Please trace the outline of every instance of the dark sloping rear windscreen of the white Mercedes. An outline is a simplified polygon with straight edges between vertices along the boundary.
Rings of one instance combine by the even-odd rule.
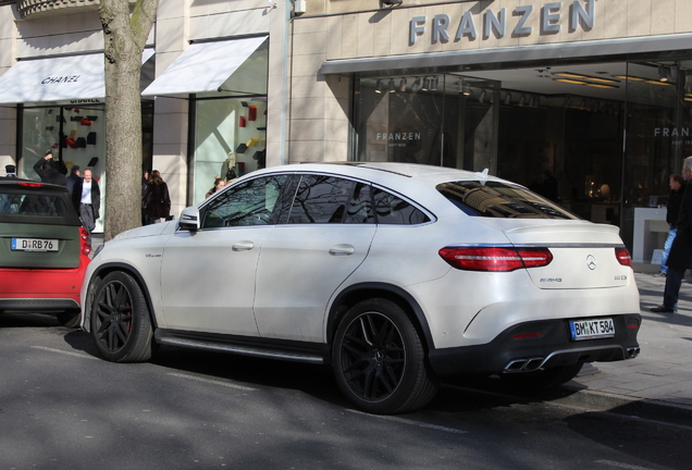
[[[449,182],[437,185],[437,190],[457,208],[472,217],[578,219],[522,186],[503,182]]]

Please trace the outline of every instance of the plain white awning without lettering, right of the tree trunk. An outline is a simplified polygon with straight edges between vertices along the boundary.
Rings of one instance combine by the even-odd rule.
[[[267,36],[190,45],[143,96],[217,91]]]

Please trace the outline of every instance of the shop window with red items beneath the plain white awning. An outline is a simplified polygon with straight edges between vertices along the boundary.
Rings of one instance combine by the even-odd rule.
[[[205,200],[214,178],[227,181],[265,165],[268,42],[218,92],[200,94],[193,103],[193,205]]]

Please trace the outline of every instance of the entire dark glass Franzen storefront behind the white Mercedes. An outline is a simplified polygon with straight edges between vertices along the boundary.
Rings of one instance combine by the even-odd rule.
[[[634,209],[665,206],[670,174],[692,154],[692,63],[583,65],[594,72],[555,63],[526,69],[532,82],[514,82],[523,89],[506,88],[505,78],[517,74],[502,69],[356,77],[351,159],[489,168],[539,193],[552,180],[557,202],[619,225],[631,248]],[[558,92],[541,89],[557,82]]]

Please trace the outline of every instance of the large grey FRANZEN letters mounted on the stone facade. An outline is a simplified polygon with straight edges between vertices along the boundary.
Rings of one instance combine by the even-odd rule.
[[[565,5],[568,3],[568,5]],[[493,11],[486,9],[480,14],[466,11],[461,15],[458,25],[452,25],[449,15],[437,14],[433,17],[432,24],[432,41],[448,42],[452,40],[460,41],[462,38],[475,39],[479,35],[479,28],[483,35],[483,39],[487,39],[491,35],[502,38],[507,35],[508,26],[515,36],[531,36],[534,28],[529,26],[533,15],[540,15],[539,34],[559,33],[563,25],[563,15],[569,15],[569,29],[578,28],[591,29],[596,24],[596,0],[573,0],[571,2],[549,2],[544,3],[543,8],[535,9],[534,5],[518,5],[511,13],[507,9]],[[536,10],[540,10],[536,12]],[[509,20],[511,17],[511,20]],[[412,46],[416,40],[425,34],[428,27],[427,16],[415,16],[409,24],[409,44]],[[456,27],[456,32],[454,28]]]

